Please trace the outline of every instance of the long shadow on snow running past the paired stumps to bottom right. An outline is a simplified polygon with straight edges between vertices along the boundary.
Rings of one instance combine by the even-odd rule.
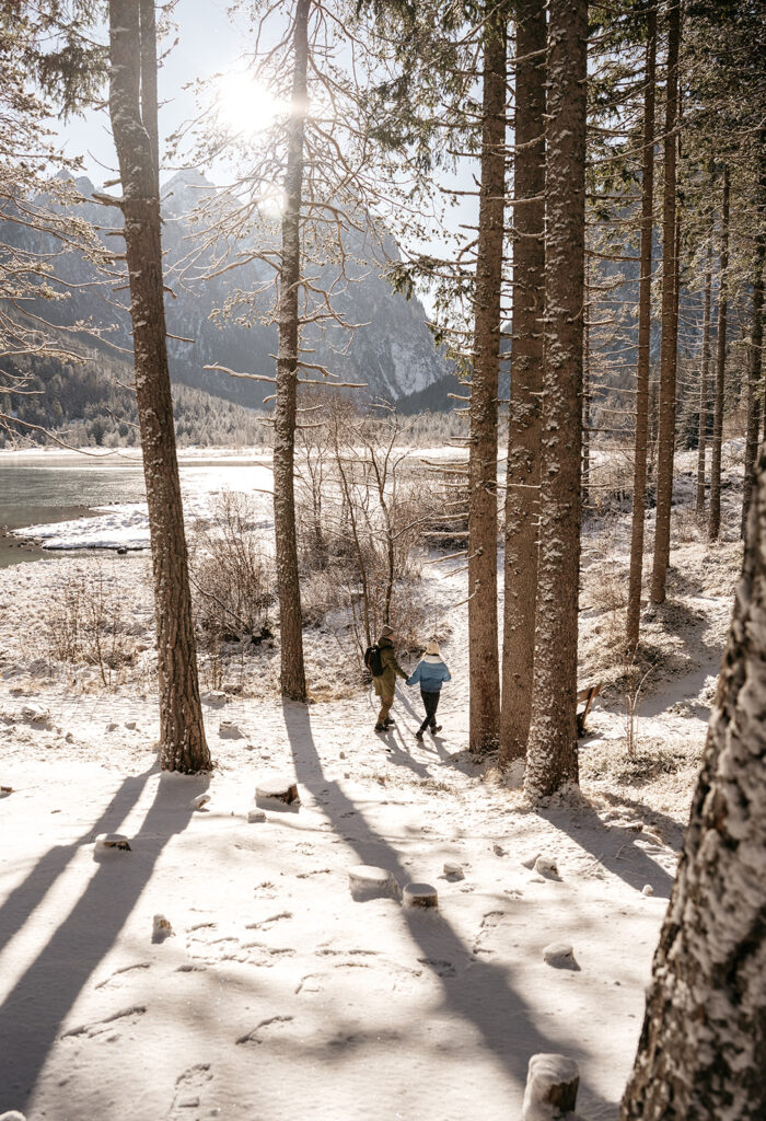
[[[321,804],[336,833],[353,847],[359,863],[384,868],[400,886],[408,883],[411,876],[399,853],[375,833],[338,784],[325,777],[306,706],[283,701],[282,710],[298,781]],[[429,915],[402,907],[401,916],[421,951],[419,961],[441,985],[448,1012],[475,1026],[487,1053],[521,1093],[530,1057],[539,1051],[558,1051],[560,1043],[541,1031],[536,1013],[514,991],[507,963],[501,967],[475,957],[443,911]],[[451,965],[456,967],[446,967]],[[587,1057],[573,1041],[568,1043],[567,1050],[574,1059]],[[591,1087],[583,1085],[582,1097],[583,1109],[598,1111],[602,1118],[616,1117],[616,1103],[606,1102]]]

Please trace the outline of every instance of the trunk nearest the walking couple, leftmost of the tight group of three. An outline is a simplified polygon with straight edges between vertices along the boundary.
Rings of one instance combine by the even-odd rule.
[[[505,216],[505,48],[507,16],[494,10],[484,28],[482,188],[476,265],[474,370],[468,456],[468,745],[497,742],[497,371]]]

